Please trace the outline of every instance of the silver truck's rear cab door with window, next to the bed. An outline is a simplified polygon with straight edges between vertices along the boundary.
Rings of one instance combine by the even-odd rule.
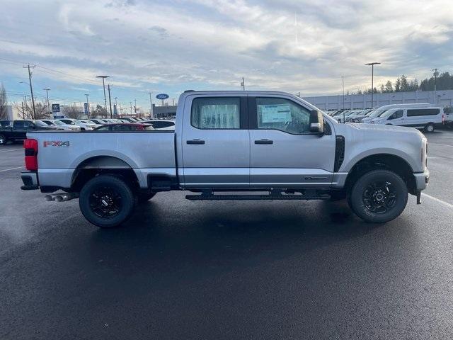
[[[183,186],[243,188],[249,185],[250,140],[246,96],[188,96],[182,138]]]

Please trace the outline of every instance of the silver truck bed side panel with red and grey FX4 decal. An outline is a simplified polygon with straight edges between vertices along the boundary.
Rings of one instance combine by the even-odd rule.
[[[112,160],[129,166],[140,186],[147,187],[148,174],[176,176],[173,131],[29,132],[38,140],[40,186],[69,188],[75,169],[88,160],[98,165]],[[109,166],[110,166],[109,165]]]

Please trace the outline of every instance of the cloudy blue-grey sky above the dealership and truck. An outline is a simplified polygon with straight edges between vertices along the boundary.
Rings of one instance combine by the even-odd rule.
[[[453,71],[453,2],[351,0],[0,0],[0,81],[11,101],[103,101],[110,75],[122,106],[185,89],[275,89],[302,96]]]

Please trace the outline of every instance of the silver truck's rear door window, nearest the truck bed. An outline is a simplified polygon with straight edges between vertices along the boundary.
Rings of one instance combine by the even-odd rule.
[[[195,98],[190,123],[199,129],[239,129],[240,100],[235,97]]]

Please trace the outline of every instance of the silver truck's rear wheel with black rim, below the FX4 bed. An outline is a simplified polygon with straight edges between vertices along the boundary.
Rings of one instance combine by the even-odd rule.
[[[88,181],[80,191],[79,206],[88,222],[101,228],[121,225],[134,212],[131,188],[115,176],[101,175]]]

